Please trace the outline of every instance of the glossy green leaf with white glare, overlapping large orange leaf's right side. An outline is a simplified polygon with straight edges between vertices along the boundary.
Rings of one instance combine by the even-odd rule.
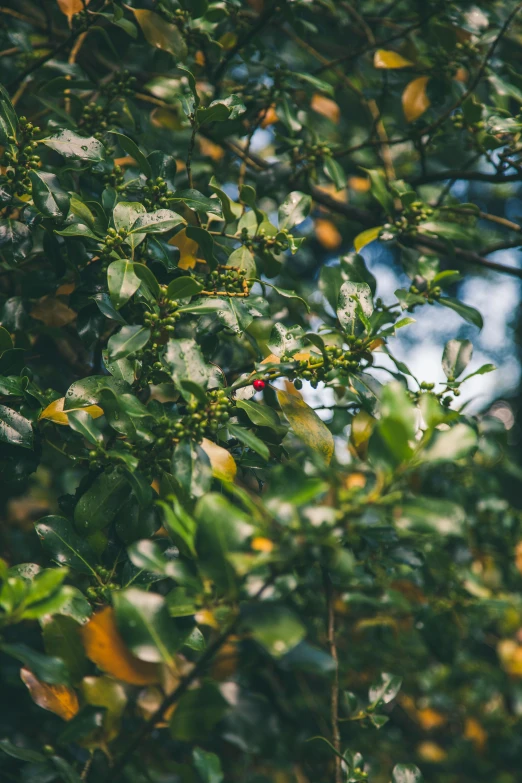
[[[171,618],[165,598],[157,593],[129,587],[115,592],[113,600],[118,630],[133,655],[173,665],[192,627]]]

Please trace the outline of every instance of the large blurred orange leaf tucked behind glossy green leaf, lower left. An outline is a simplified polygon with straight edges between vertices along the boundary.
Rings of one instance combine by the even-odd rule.
[[[140,661],[125,646],[110,606],[97,612],[80,633],[87,657],[102,671],[131,685],[159,682],[159,666]]]

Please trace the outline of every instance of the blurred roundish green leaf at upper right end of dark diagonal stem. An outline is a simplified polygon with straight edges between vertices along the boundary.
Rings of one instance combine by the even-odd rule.
[[[286,655],[306,635],[305,626],[290,609],[271,601],[247,606],[241,624],[274,658]]]

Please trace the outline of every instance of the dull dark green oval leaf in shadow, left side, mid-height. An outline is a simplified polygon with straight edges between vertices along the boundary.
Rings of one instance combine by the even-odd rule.
[[[74,509],[74,524],[83,535],[107,527],[128,496],[127,480],[117,469],[97,476]]]

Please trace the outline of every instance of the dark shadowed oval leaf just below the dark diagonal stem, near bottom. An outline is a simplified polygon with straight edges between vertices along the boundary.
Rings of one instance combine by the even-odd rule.
[[[176,740],[204,740],[228,709],[228,703],[217,685],[206,682],[188,691],[179,700],[170,720],[170,731]]]

